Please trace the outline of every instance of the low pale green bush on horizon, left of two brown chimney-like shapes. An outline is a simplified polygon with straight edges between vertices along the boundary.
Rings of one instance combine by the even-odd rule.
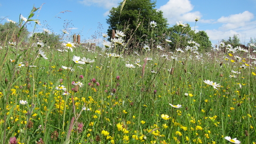
[[[60,44],[60,36],[55,34],[48,34],[46,32],[43,33],[34,33],[33,36],[31,36],[30,41],[32,42],[38,42],[42,41],[45,45],[55,47],[58,44]]]

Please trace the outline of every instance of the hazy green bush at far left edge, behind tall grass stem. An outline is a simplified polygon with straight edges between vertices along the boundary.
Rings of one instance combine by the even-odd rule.
[[[13,42],[17,41],[17,35],[19,33],[19,26],[12,22],[5,22],[4,25],[0,23],[0,42]],[[27,28],[23,28],[20,33],[19,39],[26,41],[28,38]]]

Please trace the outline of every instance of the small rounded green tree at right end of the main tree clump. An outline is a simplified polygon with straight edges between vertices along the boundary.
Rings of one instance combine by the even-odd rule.
[[[209,36],[205,33],[204,30],[198,31],[193,37],[194,41],[200,44],[198,51],[209,50],[212,47],[212,42],[209,40]]]

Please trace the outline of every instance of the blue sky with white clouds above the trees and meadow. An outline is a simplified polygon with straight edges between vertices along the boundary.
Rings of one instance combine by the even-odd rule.
[[[38,19],[41,26],[29,23],[28,30],[35,28],[37,33],[49,29],[54,34],[62,34],[63,39],[72,41],[73,34],[81,35],[82,42],[100,43],[102,33],[106,33],[109,10],[123,0],[9,0],[0,1],[0,23],[6,19],[19,21],[19,15],[28,17],[35,7],[41,7],[33,19]],[[204,30],[212,44],[221,39],[237,35],[242,44],[250,38],[256,39],[256,0],[157,0],[156,9],[163,11],[163,16],[172,27],[178,21],[188,23],[191,29]],[[195,26],[195,18],[200,17]],[[157,23],[161,25],[161,23]]]

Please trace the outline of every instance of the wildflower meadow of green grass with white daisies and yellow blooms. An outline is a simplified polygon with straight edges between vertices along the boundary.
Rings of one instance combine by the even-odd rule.
[[[122,29],[95,49],[26,42],[37,10],[20,15],[17,41],[0,44],[1,143],[256,142],[255,45],[171,50],[165,39],[137,51]]]

